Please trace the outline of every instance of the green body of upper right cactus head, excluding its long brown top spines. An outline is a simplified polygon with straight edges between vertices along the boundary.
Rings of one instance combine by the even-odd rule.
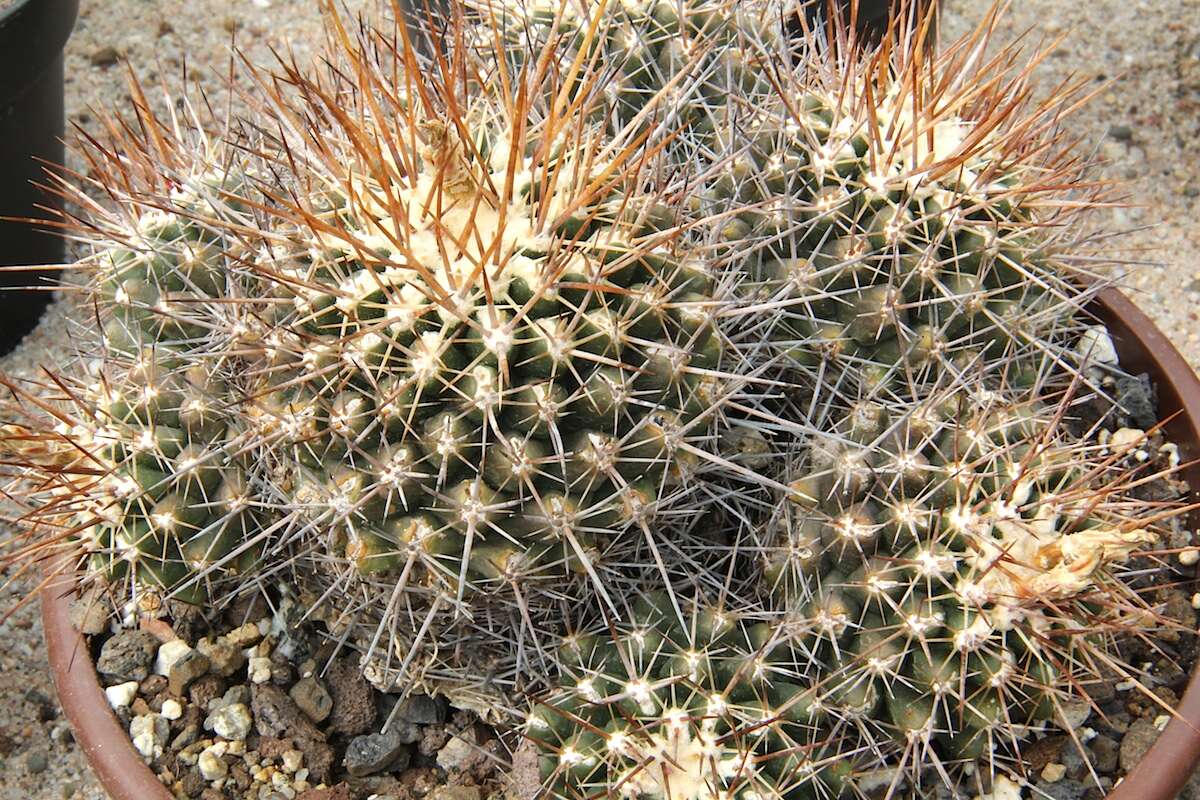
[[[1015,383],[1062,347],[1080,296],[1026,191],[1037,173],[974,122],[874,90],[883,100],[798,89],[728,145],[708,204],[769,313],[762,333],[802,371],[864,391],[1001,362]]]

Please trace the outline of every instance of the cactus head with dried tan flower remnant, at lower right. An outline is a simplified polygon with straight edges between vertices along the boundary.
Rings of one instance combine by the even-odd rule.
[[[864,703],[884,750],[991,758],[1056,716],[1087,639],[1076,614],[1104,625],[1078,604],[1156,536],[1086,499],[1105,479],[1085,475],[1086,446],[1028,392],[839,417],[788,471],[761,540],[762,591],[822,685],[882,698]]]

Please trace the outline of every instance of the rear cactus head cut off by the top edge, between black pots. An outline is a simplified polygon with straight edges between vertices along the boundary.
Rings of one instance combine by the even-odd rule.
[[[550,48],[571,98],[613,132],[674,137],[680,157],[713,142],[772,94],[761,59],[786,49],[786,4],[775,0],[473,2],[480,49],[494,58],[499,30],[514,66]]]

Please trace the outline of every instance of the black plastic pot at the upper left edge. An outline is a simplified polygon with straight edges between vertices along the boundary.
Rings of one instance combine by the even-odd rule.
[[[62,48],[79,0],[17,0],[0,11],[0,265],[59,264],[64,240],[18,219],[53,218],[58,199],[35,182],[46,162],[62,163]],[[48,285],[48,271],[0,272],[0,354],[41,318],[50,293],[12,287]]]

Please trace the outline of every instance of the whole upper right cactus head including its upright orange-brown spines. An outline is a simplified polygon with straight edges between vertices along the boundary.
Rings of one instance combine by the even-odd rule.
[[[1046,134],[1080,88],[1031,104],[1020,59],[972,60],[985,34],[930,56],[896,25],[899,46],[866,53],[806,35],[784,102],[709,173],[716,242],[748,277],[756,336],[821,380],[886,393],[978,363],[1015,380],[1068,347],[1094,277],[1072,221],[1103,191]]]

